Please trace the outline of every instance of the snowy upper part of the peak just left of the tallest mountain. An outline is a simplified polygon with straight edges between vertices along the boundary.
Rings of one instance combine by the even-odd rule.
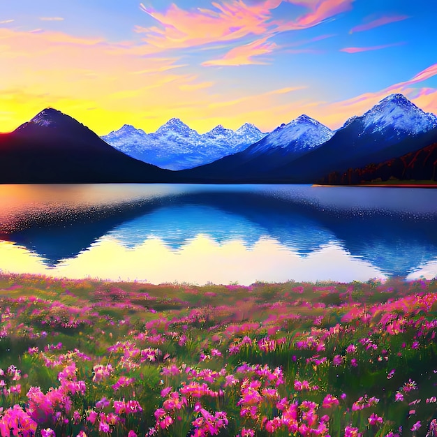
[[[288,124],[281,124],[272,133],[249,147],[246,153],[262,154],[274,149],[294,154],[304,153],[323,144],[334,135],[327,126],[302,114]]]

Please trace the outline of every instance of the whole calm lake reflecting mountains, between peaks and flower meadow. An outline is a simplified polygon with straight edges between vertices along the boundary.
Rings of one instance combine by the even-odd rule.
[[[0,269],[149,283],[437,275],[437,190],[0,186]]]

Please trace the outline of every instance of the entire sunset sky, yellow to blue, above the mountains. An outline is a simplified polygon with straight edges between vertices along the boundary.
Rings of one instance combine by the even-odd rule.
[[[434,0],[0,0],[0,132],[47,107],[98,135],[335,129],[392,93],[437,113],[436,17]]]

